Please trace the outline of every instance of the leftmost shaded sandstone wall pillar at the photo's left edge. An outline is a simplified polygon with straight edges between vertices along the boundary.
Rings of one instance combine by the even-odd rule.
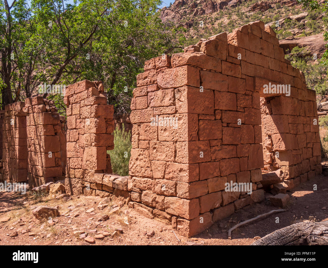
[[[27,177],[27,132],[24,102],[5,106],[3,118],[2,180],[26,182]]]

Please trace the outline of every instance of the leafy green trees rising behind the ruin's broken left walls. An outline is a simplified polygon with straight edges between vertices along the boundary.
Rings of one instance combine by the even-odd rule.
[[[159,4],[160,0],[75,0],[67,5],[62,0],[32,0],[31,6],[18,0],[12,7],[2,4],[1,10],[13,9],[1,17],[3,104],[36,94],[43,83],[68,85],[88,79],[104,82],[116,112],[129,111],[135,76],[143,71],[144,61],[183,42],[174,41],[175,27],[161,22]],[[11,51],[14,60],[8,56]],[[48,97],[64,107],[62,96]]]

